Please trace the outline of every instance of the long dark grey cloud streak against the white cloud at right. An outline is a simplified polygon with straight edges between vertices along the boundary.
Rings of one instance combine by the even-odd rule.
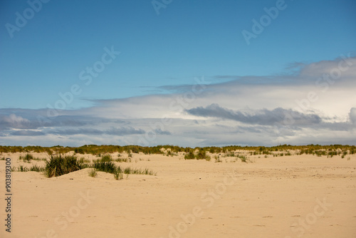
[[[261,109],[257,110],[256,113],[251,114],[222,108],[218,104],[213,103],[205,108],[197,107],[186,111],[191,115],[236,120],[241,123],[253,125],[275,125],[276,123],[285,124],[286,120],[292,119],[293,125],[313,125],[321,123],[319,115],[304,114],[295,110],[283,108],[275,108],[273,110]]]

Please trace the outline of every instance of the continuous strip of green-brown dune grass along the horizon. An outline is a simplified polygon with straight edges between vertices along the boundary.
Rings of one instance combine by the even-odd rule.
[[[78,148],[64,147],[56,145],[52,147],[41,146],[2,146],[0,145],[0,155],[2,152],[47,152],[48,155],[60,155],[68,152],[75,152],[78,154],[91,154],[91,155],[107,155],[115,152],[127,153],[127,157],[131,158],[132,154],[143,153],[145,155],[178,155],[179,152],[187,153],[187,159],[196,159],[196,155],[189,153],[190,151],[206,151],[213,153],[225,153],[233,155],[236,150],[246,150],[250,155],[273,155],[276,156],[290,156],[290,155],[315,155],[322,156],[327,155],[334,157],[335,155],[354,155],[356,153],[355,145],[277,145],[272,147],[264,146],[239,146],[229,145],[224,147],[204,147],[204,148],[182,148],[175,145],[157,145],[153,147],[145,147],[139,145],[83,145]],[[35,160],[35,158],[26,157],[25,161]],[[190,157],[189,157],[190,156]],[[198,156],[199,157],[199,156]],[[21,157],[22,159],[22,157]],[[120,162],[120,161],[117,161]]]

